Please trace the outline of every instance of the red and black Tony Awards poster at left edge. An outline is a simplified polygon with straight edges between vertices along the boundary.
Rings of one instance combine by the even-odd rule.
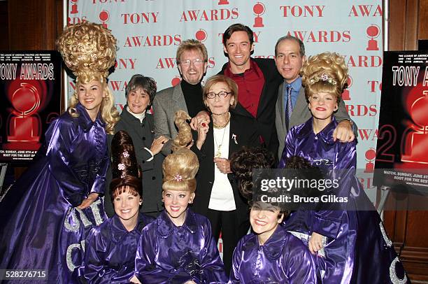
[[[0,162],[25,165],[60,113],[61,56],[0,51]]]

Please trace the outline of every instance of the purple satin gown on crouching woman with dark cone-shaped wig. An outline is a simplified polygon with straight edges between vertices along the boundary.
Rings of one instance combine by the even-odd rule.
[[[141,231],[155,220],[140,213],[135,229],[125,229],[117,215],[94,227],[85,241],[85,265],[76,269],[82,283],[129,283]]]

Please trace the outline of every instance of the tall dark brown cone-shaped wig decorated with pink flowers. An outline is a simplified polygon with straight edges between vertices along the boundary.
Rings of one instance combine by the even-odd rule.
[[[128,186],[134,196],[143,195],[141,187],[141,177],[136,161],[134,144],[131,136],[120,130],[113,137],[111,142],[111,172],[113,180],[110,183],[110,197],[115,199],[117,195],[125,192]]]

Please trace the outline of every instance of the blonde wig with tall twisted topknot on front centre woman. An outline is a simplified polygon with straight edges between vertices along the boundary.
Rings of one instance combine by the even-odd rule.
[[[190,191],[196,190],[196,178],[199,169],[197,155],[186,148],[192,141],[192,131],[186,122],[190,116],[185,111],[176,113],[178,135],[173,140],[173,152],[166,156],[162,164],[164,183],[162,190]]]

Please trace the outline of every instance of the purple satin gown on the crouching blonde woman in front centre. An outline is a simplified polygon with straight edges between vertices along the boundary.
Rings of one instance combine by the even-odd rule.
[[[145,226],[135,269],[141,283],[227,283],[210,222],[189,208],[180,227],[166,211]]]

